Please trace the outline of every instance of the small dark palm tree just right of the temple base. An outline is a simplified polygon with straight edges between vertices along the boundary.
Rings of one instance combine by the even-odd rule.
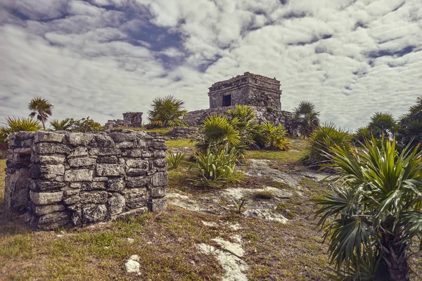
[[[315,111],[315,105],[310,101],[301,101],[293,110],[293,124],[303,138],[309,136],[319,126],[319,112]]]

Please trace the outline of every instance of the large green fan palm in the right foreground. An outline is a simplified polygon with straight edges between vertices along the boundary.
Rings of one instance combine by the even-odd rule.
[[[343,280],[409,280],[407,251],[422,235],[422,152],[392,141],[362,148],[335,145],[329,155],[340,176],[316,200],[319,226]],[[342,273],[343,270],[343,273]],[[387,274],[385,279],[381,276]]]

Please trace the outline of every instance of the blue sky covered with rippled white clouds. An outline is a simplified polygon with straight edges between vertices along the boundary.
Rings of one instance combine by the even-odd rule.
[[[41,96],[105,123],[243,72],[348,129],[422,95],[421,0],[0,0],[0,122]]]

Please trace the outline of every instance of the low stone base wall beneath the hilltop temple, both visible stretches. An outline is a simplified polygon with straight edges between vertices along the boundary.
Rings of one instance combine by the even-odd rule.
[[[260,107],[251,106],[255,112],[255,120],[258,123],[264,121],[272,122],[276,125],[282,124],[284,129],[290,133],[290,135],[296,135],[297,133],[293,130],[292,124],[292,113],[288,111],[279,110],[273,107]],[[200,126],[208,116],[219,115],[224,116],[227,110],[233,109],[234,106],[230,107],[216,107],[207,110],[196,110],[188,112],[188,116],[184,119],[186,124],[189,126]]]

